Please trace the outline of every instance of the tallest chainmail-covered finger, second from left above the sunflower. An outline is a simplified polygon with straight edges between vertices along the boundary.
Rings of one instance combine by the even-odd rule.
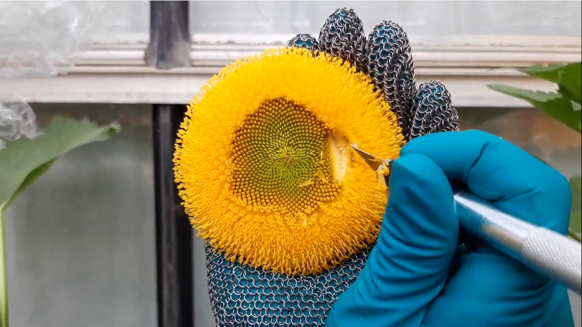
[[[364,27],[353,9],[336,9],[321,27],[320,50],[349,61],[366,72]]]

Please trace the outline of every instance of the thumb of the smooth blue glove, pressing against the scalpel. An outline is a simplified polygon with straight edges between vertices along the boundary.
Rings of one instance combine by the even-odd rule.
[[[457,247],[459,221],[445,175],[423,155],[393,163],[378,243],[326,326],[414,326],[438,295]]]

